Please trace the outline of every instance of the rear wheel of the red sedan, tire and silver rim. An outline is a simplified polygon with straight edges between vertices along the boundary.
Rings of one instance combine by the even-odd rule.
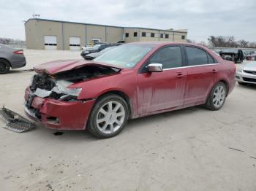
[[[210,110],[219,110],[225,104],[227,97],[227,87],[223,82],[218,82],[211,90],[206,100],[206,108]]]

